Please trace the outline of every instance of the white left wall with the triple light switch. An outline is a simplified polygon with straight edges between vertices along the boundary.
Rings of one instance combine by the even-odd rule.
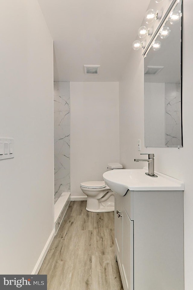
[[[36,0],[1,3],[0,274],[31,274],[54,230],[53,42]]]

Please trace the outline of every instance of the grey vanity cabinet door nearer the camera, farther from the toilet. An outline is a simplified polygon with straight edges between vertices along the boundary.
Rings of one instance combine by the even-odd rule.
[[[134,289],[134,230],[125,208],[122,210],[122,274],[126,290]],[[124,288],[124,290],[125,290]]]

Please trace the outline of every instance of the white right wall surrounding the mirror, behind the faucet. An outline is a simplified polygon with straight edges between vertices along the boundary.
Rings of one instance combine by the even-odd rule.
[[[144,81],[143,57],[140,51],[131,51],[122,81],[120,95],[120,163],[125,168],[142,168],[135,163],[140,157],[137,140],[141,139],[141,153],[155,154],[155,169],[185,182],[184,239],[185,239],[185,290],[193,285],[193,194],[192,194],[192,144],[193,144],[193,58],[192,58],[193,2],[184,1],[183,26],[183,148],[144,148]]]

